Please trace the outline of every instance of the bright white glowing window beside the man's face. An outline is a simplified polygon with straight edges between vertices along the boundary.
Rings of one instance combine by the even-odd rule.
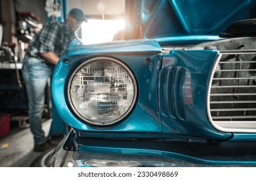
[[[88,19],[82,25],[82,40],[84,44],[96,44],[113,41],[114,34],[123,30],[123,19]]]

